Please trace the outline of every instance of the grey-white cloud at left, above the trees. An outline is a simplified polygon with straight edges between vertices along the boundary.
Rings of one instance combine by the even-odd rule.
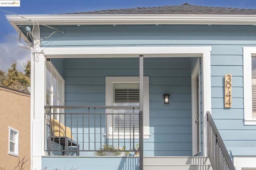
[[[18,37],[17,33],[12,33],[0,42],[0,70],[7,72],[13,61],[16,61],[17,70],[23,72],[25,64],[30,60],[30,50],[21,48],[17,44],[19,41],[9,36]]]

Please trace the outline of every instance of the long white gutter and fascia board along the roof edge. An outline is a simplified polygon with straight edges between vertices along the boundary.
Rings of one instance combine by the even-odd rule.
[[[22,18],[23,17],[23,18]],[[256,15],[6,15],[16,25],[107,25],[107,24],[199,24],[199,25],[255,25]],[[27,19],[25,19],[27,18]],[[29,19],[29,20],[28,20]]]

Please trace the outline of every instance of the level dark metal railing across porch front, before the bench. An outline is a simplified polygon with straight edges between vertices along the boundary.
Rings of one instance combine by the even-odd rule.
[[[138,106],[44,106],[48,155],[118,156],[139,143]],[[115,113],[113,109],[122,109]],[[133,152],[132,152],[133,153]],[[88,155],[86,155],[88,156]]]

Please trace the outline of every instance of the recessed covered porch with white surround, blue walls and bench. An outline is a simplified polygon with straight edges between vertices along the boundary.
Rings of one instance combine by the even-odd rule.
[[[209,100],[210,47],[127,47],[127,49],[124,47],[123,49],[126,50],[122,50],[122,52],[122,48],[118,47],[87,47],[78,48],[78,51],[72,48],[72,51],[69,52],[69,48],[62,49],[64,51],[60,50],[60,48],[54,49],[44,49],[43,54],[35,54],[51,57],[54,68],[56,68],[65,82],[64,106],[54,106],[51,104],[43,106],[43,119],[45,120],[43,129],[46,133],[44,133],[45,145],[42,147],[46,157],[50,155],[95,156],[95,153],[98,150],[102,150],[104,145],[112,145],[112,147],[117,148],[117,150],[110,150],[110,152],[130,152],[126,156],[135,158],[138,157],[134,156],[136,155],[134,149],[137,149],[138,146],[140,147],[140,156],[195,155],[196,151],[193,151],[193,146],[195,145],[193,143],[193,128],[195,127],[192,125],[192,122],[194,122],[192,110],[194,108],[192,108],[191,75],[196,61],[201,61],[198,70],[202,82],[200,98],[202,101],[205,98]],[[81,51],[81,49],[85,51]],[[113,51],[108,52],[110,49]],[[128,51],[134,51],[133,53],[135,54],[129,54]],[[72,54],[68,55],[70,52]],[[139,55],[141,53],[143,53],[142,56]],[[207,57],[208,59],[206,59]],[[203,64],[208,64],[208,67],[203,66]],[[45,66],[44,68],[46,69]],[[137,77],[138,80],[135,83],[139,83],[142,87],[144,86],[144,77],[148,77],[148,117],[143,118],[144,134],[138,133],[137,130],[139,129],[136,130],[135,124],[132,123],[138,121],[138,119],[133,118],[139,113],[136,111],[130,112],[129,117],[132,118],[129,119],[131,121],[129,125],[126,125],[126,121],[121,123],[119,121],[112,121],[112,123],[118,123],[117,126],[124,123],[124,130],[120,130],[116,134],[114,132],[110,133],[114,130],[106,127],[108,124],[106,117],[108,115],[112,117],[114,113],[111,110],[114,107],[124,106],[108,104],[106,77]],[[207,78],[209,81],[205,81]],[[164,105],[162,95],[166,93],[171,94],[169,105]],[[145,96],[145,92],[142,94]],[[200,156],[206,155],[204,153],[204,139],[206,138],[204,129],[206,115],[204,112],[206,113],[206,107],[210,109],[209,101],[207,103],[206,100],[206,102],[202,102],[202,105],[200,105],[202,112],[200,117],[200,132],[202,132],[200,136]],[[141,102],[139,106],[126,106],[129,108],[122,109],[143,111],[141,109],[143,107],[140,106]],[[115,114],[120,117],[123,116],[123,113]],[[49,123],[51,118],[56,118],[65,127],[70,128],[72,136],[69,147],[65,148],[60,143],[62,141],[60,136],[52,137],[51,129],[56,127]],[[49,126],[47,127],[47,125]],[[60,125],[57,128],[60,128]],[[64,132],[66,133],[66,130]],[[140,137],[139,134],[143,137]],[[143,144],[140,143],[142,139]],[[139,145],[136,147],[136,144]],[[125,149],[122,149],[122,147]]]

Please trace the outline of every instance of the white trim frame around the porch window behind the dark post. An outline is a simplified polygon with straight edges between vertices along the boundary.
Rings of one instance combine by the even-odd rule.
[[[143,92],[144,92],[144,110],[143,110],[143,124],[144,124],[144,139],[149,139],[150,137],[150,133],[149,133],[149,77],[148,76],[144,76],[144,86],[143,86]],[[113,84],[115,83],[139,83],[139,77],[138,76],[134,76],[134,77],[106,77],[106,106],[113,106],[114,105],[114,88],[113,88]],[[113,109],[106,109],[106,113],[113,113]],[[112,133],[112,116],[107,116],[107,133],[105,134],[107,136],[108,139],[118,139],[118,137],[120,139],[124,138],[124,134],[123,133],[118,133],[114,132],[114,134]],[[134,133],[134,137],[136,139],[139,138],[139,133]],[[130,138],[130,133],[125,133],[125,139],[129,139]]]

